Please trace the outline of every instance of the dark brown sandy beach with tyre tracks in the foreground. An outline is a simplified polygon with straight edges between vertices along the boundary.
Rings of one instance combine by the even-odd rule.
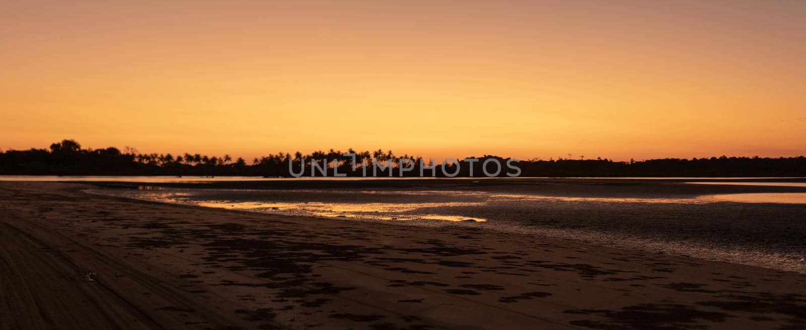
[[[806,327],[794,272],[85,188],[0,183],[0,328]]]

